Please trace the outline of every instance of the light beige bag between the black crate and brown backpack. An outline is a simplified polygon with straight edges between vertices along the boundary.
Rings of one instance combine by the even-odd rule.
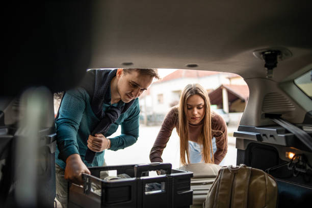
[[[193,177],[191,178],[193,204],[190,206],[191,208],[202,207],[220,168],[219,165],[210,163],[192,163],[179,168],[179,170],[193,172]]]

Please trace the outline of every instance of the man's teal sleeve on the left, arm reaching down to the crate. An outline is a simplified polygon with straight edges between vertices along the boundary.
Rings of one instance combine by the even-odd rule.
[[[59,117],[56,120],[59,158],[66,162],[71,154],[79,154],[77,131],[86,108],[86,92],[83,89],[69,90],[64,94]]]

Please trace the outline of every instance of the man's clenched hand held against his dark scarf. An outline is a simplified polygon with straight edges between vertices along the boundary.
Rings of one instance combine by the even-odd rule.
[[[92,151],[100,152],[111,147],[111,142],[102,134],[95,134],[95,137],[89,135],[88,147]]]

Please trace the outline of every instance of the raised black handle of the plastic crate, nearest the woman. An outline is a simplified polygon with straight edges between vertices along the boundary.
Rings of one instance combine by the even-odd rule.
[[[153,171],[153,170],[165,170],[166,174],[171,174],[171,163],[149,163],[149,164],[141,164],[135,165],[135,177],[141,177],[143,172]]]

